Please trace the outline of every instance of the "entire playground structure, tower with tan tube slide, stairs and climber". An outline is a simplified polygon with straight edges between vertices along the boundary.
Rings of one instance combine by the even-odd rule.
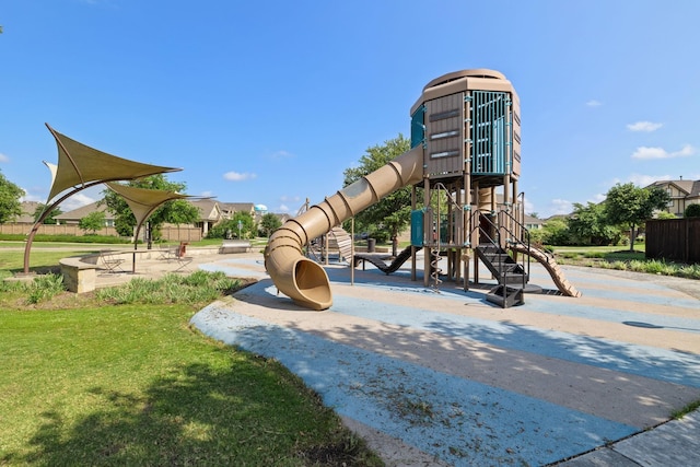
[[[498,280],[487,299],[506,307],[524,302],[534,258],[545,265],[563,294],[579,296],[553,258],[533,248],[523,225],[524,195],[517,190],[520,101],[511,82],[486,69],[447,73],[423,87],[410,115],[409,151],[287,221],[271,235],[265,265],[277,288],[301,306],[330,307],[328,276],[304,257],[304,246],[410,185],[411,279],[417,280],[421,248],[425,287],[451,280],[462,281],[467,290],[470,260],[477,283],[481,260]]]

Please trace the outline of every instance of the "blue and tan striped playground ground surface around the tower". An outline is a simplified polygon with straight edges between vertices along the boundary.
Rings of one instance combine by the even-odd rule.
[[[546,293],[502,310],[487,289],[369,267],[351,285],[331,265],[334,305],[313,312],[261,255],[199,268],[258,282],[192,323],[282,362],[387,465],[700,465],[698,412],[666,423],[700,399],[700,281],[563,267],[572,299],[533,264]]]

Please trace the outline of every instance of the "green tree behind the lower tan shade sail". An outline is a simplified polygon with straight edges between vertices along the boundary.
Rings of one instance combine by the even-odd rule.
[[[129,186],[145,189],[159,189],[164,191],[185,191],[185,183],[168,182],[165,175],[158,174],[149,177],[130,180]],[[133,234],[133,227],[136,226],[136,218],[129,208],[129,205],[110,189],[103,191],[104,199],[101,201],[107,206],[109,212],[115,214],[115,229],[122,236],[130,236]],[[197,222],[199,219],[199,210],[191,203],[184,199],[175,199],[166,201],[161,205],[148,219],[147,229],[148,238],[151,241],[159,240],[161,237],[161,226],[164,223],[172,224],[186,224]]]

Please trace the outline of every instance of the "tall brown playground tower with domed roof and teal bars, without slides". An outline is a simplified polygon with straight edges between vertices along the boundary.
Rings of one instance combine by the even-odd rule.
[[[520,100],[502,73],[463,70],[429,82],[410,115],[411,148],[423,150],[423,177],[415,187],[423,188],[425,207],[413,211],[411,244],[427,248],[425,285],[445,273],[460,279],[464,261],[466,287],[471,248],[483,236],[503,243],[508,236],[495,231],[522,220]],[[506,215],[497,221],[500,212]],[[439,262],[444,257],[446,271]]]

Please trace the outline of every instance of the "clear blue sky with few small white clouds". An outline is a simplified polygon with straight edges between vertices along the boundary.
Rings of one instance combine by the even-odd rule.
[[[526,212],[567,213],[616,183],[700,179],[698,17],[695,0],[0,0],[0,171],[46,201],[48,122],[182,167],[189,195],[295,213],[409,136],[430,80],[490,68],[521,98]]]

